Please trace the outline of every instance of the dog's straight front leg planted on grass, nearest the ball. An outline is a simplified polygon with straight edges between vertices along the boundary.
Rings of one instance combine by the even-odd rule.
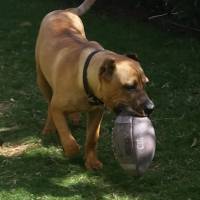
[[[85,144],[85,166],[89,170],[100,169],[103,166],[96,155],[96,146],[99,139],[102,117],[102,108],[95,109],[88,113],[87,136]]]

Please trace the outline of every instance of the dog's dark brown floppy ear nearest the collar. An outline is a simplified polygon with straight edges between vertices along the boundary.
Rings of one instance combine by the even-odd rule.
[[[115,60],[113,59],[106,59],[102,66],[100,67],[99,77],[100,79],[104,79],[110,81],[112,79],[112,75],[115,71]]]

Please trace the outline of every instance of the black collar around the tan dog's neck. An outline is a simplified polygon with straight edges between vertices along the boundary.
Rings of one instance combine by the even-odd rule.
[[[90,61],[91,61],[92,57],[100,51],[103,51],[103,50],[95,50],[92,53],[90,53],[89,56],[87,57],[86,61],[85,61],[84,68],[83,68],[83,86],[84,86],[85,92],[88,96],[88,102],[91,105],[103,105],[104,104],[99,98],[97,98],[94,95],[92,89],[89,86],[88,78],[87,78],[87,69],[88,69],[88,66],[90,64]]]

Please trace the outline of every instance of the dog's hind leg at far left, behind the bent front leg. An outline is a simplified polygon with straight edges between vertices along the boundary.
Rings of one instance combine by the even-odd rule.
[[[45,122],[45,126],[42,130],[43,134],[48,134],[50,132],[56,131],[53,119],[52,119],[52,114],[51,114],[51,109],[50,109],[50,102],[52,98],[52,89],[48,82],[46,81],[44,75],[42,74],[39,66],[37,66],[37,84],[38,87],[40,88],[41,93],[43,96],[46,98],[48,102],[48,113],[47,113],[47,119]]]

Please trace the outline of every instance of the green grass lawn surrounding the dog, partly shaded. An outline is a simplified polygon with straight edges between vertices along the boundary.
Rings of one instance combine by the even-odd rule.
[[[143,177],[127,175],[115,161],[111,113],[106,113],[102,127],[100,171],[85,170],[83,152],[73,160],[65,158],[55,135],[41,137],[47,105],[35,83],[35,40],[42,17],[63,6],[55,0],[0,3],[0,138],[5,141],[3,149],[31,146],[19,155],[0,155],[0,200],[199,200],[197,39],[94,10],[83,17],[89,39],[116,52],[137,52],[151,80],[147,90],[156,104],[152,121],[157,150]],[[13,126],[17,129],[2,129]],[[72,131],[83,146],[85,115]]]

